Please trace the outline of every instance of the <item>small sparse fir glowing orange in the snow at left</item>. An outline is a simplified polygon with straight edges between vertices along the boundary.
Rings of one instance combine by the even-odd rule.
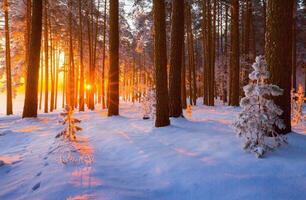
[[[60,123],[66,125],[66,127],[56,136],[56,138],[64,137],[71,141],[75,141],[76,133],[82,130],[81,127],[76,125],[81,123],[81,120],[73,117],[73,110],[68,105],[65,107],[64,112],[62,112],[60,115],[63,117],[63,120],[60,121]]]

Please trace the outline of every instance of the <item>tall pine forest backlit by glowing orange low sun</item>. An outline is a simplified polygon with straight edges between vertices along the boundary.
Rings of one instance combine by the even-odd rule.
[[[199,97],[208,106],[216,98],[238,106],[252,62],[264,54],[271,83],[284,89],[275,99],[286,125],[279,131],[291,131],[290,91],[305,63],[305,0],[133,3],[127,13],[118,0],[2,1],[7,114],[22,82],[23,117],[59,104],[79,111],[101,104],[116,116],[120,98],[139,102],[156,88],[155,126],[167,126]]]

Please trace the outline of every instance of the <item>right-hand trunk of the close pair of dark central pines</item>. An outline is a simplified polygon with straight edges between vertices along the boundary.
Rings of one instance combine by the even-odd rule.
[[[182,116],[181,71],[184,43],[184,0],[174,0],[172,5],[169,111],[171,117]]]

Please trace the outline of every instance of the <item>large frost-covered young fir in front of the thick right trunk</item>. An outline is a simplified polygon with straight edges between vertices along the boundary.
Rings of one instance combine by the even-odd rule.
[[[276,128],[285,128],[279,118],[283,111],[272,100],[273,96],[282,95],[283,90],[277,85],[267,84],[270,73],[263,56],[257,57],[252,67],[251,81],[243,88],[245,97],[240,102],[243,110],[234,128],[246,140],[244,149],[260,158],[265,152],[286,143],[286,138],[276,131]]]

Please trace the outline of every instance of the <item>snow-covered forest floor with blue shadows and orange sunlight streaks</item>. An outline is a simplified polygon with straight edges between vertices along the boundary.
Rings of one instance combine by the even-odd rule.
[[[159,129],[140,110],[76,113],[74,143],[55,138],[58,113],[0,117],[0,199],[305,199],[306,124],[257,159],[231,128],[237,108],[201,105]]]

